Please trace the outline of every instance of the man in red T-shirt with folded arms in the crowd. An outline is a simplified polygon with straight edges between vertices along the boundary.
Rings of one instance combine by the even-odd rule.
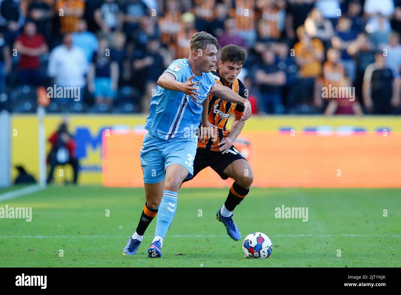
[[[20,56],[19,83],[21,85],[40,85],[42,73],[39,57],[48,50],[45,38],[36,32],[36,24],[27,21],[22,33],[15,40],[14,48]]]

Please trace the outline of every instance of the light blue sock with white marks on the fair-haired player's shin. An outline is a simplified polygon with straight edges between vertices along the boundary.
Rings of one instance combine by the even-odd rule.
[[[157,213],[155,236],[161,236],[164,239],[167,230],[173,221],[177,210],[178,193],[174,191],[163,191],[162,201],[160,202]]]

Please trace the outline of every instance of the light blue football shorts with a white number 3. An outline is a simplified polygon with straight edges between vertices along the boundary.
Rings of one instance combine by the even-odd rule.
[[[188,170],[188,177],[192,177],[197,144],[197,136],[164,140],[146,132],[140,152],[144,183],[162,181],[166,178],[166,168],[172,164],[184,166]]]

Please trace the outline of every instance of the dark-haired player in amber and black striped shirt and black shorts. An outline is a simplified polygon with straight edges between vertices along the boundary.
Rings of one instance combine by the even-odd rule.
[[[237,45],[227,45],[221,50],[219,69],[212,70],[216,83],[227,86],[239,96],[247,99],[247,91],[243,83],[237,79],[246,59],[246,51]],[[241,122],[244,107],[226,102],[213,93],[209,95],[209,108],[203,112],[200,128],[208,126],[217,129],[217,134],[205,134],[198,139],[198,148],[194,159],[195,177],[201,170],[211,167],[222,179],[229,177],[235,181],[231,186],[227,199],[217,211],[216,219],[223,222],[227,234],[233,240],[240,240],[241,233],[231,218],[235,207],[241,203],[249,193],[253,181],[253,171],[245,157],[233,146],[234,140],[241,132],[245,122]],[[227,129],[227,122],[233,114],[231,130]],[[206,124],[205,124],[206,123]],[[209,132],[210,133],[210,132]],[[185,179],[188,181],[192,179]]]

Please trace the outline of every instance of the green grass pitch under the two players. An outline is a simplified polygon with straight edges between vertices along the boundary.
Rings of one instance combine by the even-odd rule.
[[[156,219],[138,254],[122,255],[143,189],[53,186],[2,201],[32,207],[32,221],[0,219],[0,267],[401,267],[401,189],[251,188],[234,211],[237,242],[215,219],[227,193],[182,188],[160,259],[147,255]],[[308,221],[275,218],[282,205],[308,207]],[[271,239],[268,259],[244,258],[251,232]]]

